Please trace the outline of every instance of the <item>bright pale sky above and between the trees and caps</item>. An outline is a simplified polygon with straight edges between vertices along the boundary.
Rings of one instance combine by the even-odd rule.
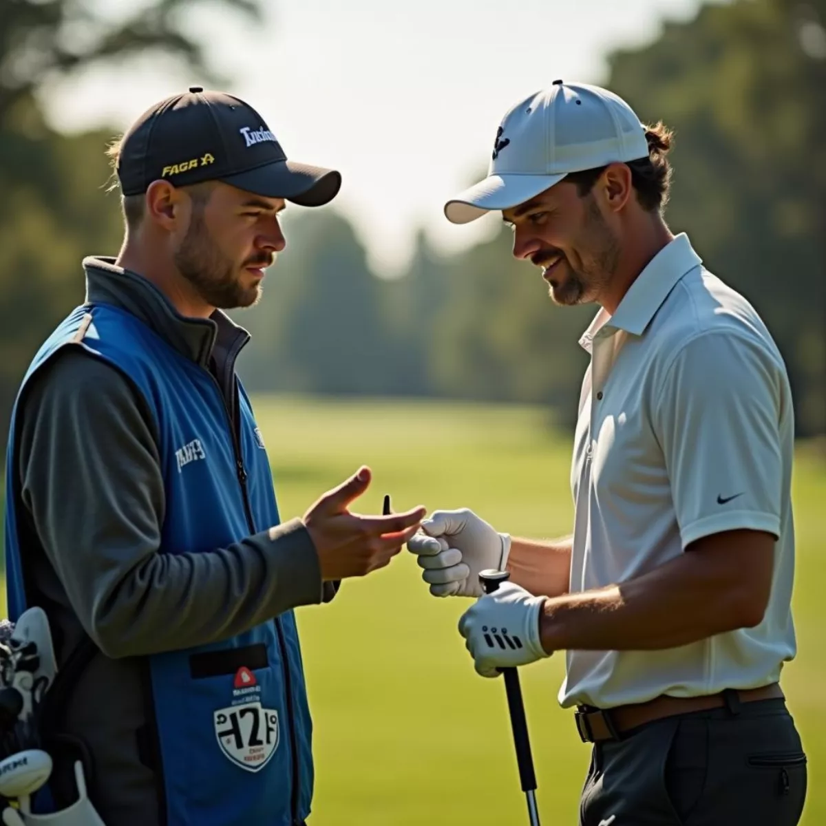
[[[135,0],[96,0],[126,14]],[[643,45],[698,0],[264,0],[249,26],[193,2],[183,26],[211,45],[223,88],[256,108],[287,157],[339,169],[335,207],[380,273],[401,271],[424,229],[445,253],[500,220],[456,226],[444,202],[487,170],[496,127],[554,79],[605,83],[606,55]],[[146,2],[143,2],[146,5]],[[113,12],[113,9],[117,9]],[[59,129],[121,131],[167,95],[204,83],[157,56],[50,83]],[[289,239],[287,239],[287,243]]]

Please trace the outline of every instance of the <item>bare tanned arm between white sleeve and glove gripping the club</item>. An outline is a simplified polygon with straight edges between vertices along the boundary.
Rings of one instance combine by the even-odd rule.
[[[756,624],[747,577],[721,559],[686,552],[628,582],[545,602],[546,651],[676,648]]]

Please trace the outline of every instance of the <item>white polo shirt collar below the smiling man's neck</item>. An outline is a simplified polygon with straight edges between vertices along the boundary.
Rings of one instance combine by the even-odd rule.
[[[601,330],[606,333],[625,330],[631,335],[643,335],[668,294],[700,263],[702,259],[691,246],[688,235],[685,232],[676,235],[639,273],[613,316],[600,308],[579,339],[582,348],[591,352],[591,344]]]

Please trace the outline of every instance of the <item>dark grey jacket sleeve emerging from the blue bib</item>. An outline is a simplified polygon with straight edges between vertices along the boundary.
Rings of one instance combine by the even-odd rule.
[[[140,394],[80,349],[32,381],[19,420],[23,506],[72,609],[108,656],[216,642],[330,599],[301,520],[226,548],[158,553],[164,480]]]

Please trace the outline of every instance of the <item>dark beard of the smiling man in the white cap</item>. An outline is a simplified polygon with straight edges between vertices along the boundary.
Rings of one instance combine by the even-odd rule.
[[[563,267],[567,268],[567,274],[563,280],[550,285],[550,294],[553,301],[561,306],[596,301],[614,275],[619,261],[619,244],[592,199],[586,216],[583,235],[586,236],[587,246],[596,252],[590,261],[586,263],[581,259],[579,268],[575,268],[571,259],[559,251],[559,254],[563,254]],[[550,257],[551,254],[548,254],[548,258]]]

